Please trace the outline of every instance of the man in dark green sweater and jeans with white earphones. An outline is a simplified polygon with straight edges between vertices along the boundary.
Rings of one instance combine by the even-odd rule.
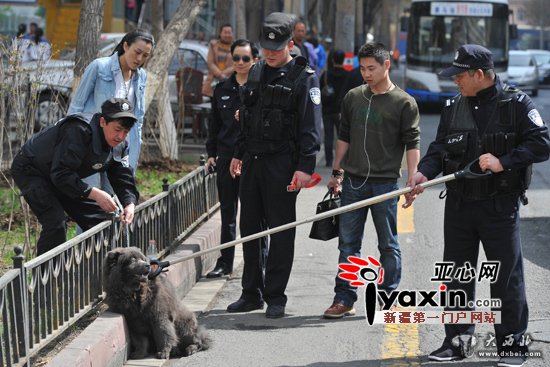
[[[418,106],[414,98],[390,80],[390,53],[381,43],[366,43],[358,52],[361,74],[367,84],[352,89],[342,102],[342,118],[332,176],[328,188],[341,193],[342,206],[398,189],[403,155],[407,182],[420,159]],[[376,234],[384,281],[379,288],[391,292],[401,280],[401,250],[397,238],[397,201],[386,200],[340,215],[338,263],[361,256],[361,242],[369,210]],[[354,315],[357,288],[336,276],[329,319]]]

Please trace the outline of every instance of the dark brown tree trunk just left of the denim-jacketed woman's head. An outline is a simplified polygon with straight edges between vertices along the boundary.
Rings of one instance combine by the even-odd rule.
[[[97,41],[103,27],[103,9],[105,0],[82,0],[78,41],[74,65],[73,93],[80,83],[84,69],[97,56]]]

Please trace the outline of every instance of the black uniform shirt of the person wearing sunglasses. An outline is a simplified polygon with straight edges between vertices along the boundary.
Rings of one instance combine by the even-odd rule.
[[[208,157],[233,157],[239,135],[239,124],[235,111],[242,105],[239,97],[239,83],[235,74],[218,83],[212,97],[212,118],[208,125],[206,152]]]

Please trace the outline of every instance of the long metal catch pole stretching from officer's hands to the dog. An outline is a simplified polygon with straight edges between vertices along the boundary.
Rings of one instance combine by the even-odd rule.
[[[474,172],[473,171],[473,169],[474,169],[473,165],[475,163],[477,163],[477,170]],[[476,160],[470,162],[463,170],[457,171],[455,173],[450,173],[448,175],[445,175],[445,176],[442,176],[442,177],[439,177],[439,178],[435,178],[435,179],[430,180],[430,181],[426,181],[422,184],[419,184],[419,186],[421,186],[423,188],[428,188],[428,187],[431,187],[431,186],[440,185],[442,183],[445,183],[445,182],[448,182],[448,181],[453,181],[453,180],[456,180],[456,179],[463,179],[463,178],[476,179],[476,178],[480,178],[480,177],[489,176],[491,174],[492,174],[492,172],[488,171],[488,170],[485,171],[485,172],[482,172],[481,169],[479,169],[479,160],[476,159]],[[313,178],[313,175],[312,175],[312,178]],[[315,183],[314,185],[316,185],[317,183]],[[271,228],[271,229],[267,229],[267,230],[262,231],[262,232],[254,233],[254,234],[251,234],[249,236],[233,240],[231,242],[226,242],[226,243],[221,244],[219,246],[215,246],[215,247],[211,247],[211,248],[208,248],[208,249],[205,249],[205,250],[197,251],[194,254],[182,256],[179,259],[172,260],[171,262],[167,261],[167,260],[161,261],[161,260],[158,260],[158,259],[153,259],[150,262],[151,263],[151,272],[149,273],[149,278],[154,278],[157,275],[159,275],[161,272],[166,271],[165,268],[170,266],[171,264],[178,264],[178,263],[183,262],[183,261],[191,260],[191,259],[194,259],[196,257],[206,255],[210,252],[223,250],[223,249],[228,248],[228,247],[233,247],[233,246],[238,245],[240,243],[245,243],[245,242],[248,242],[248,241],[252,241],[252,240],[258,239],[260,237],[265,237],[267,235],[271,235],[273,233],[286,231],[287,229],[291,229],[291,228],[297,227],[297,226],[305,224],[305,223],[315,222],[317,220],[330,218],[330,217],[333,217],[335,215],[339,215],[339,214],[342,214],[342,213],[347,213],[347,212],[350,212],[350,211],[355,210],[355,209],[359,209],[359,208],[371,206],[371,205],[374,205],[374,204],[378,204],[378,203],[381,203],[383,201],[398,197],[400,195],[408,194],[412,190],[413,189],[411,187],[405,187],[405,188],[402,188],[402,189],[399,189],[399,190],[391,191],[391,192],[388,192],[386,194],[382,194],[382,195],[378,195],[378,196],[375,196],[375,197],[372,197],[372,198],[369,198],[369,199],[361,200],[361,201],[358,201],[356,203],[346,205],[346,206],[342,206],[340,208],[332,209],[332,210],[329,210],[329,211],[326,211],[326,212],[323,212],[323,213],[319,213],[319,214],[316,214],[314,216],[311,216],[311,217],[308,217],[308,218],[305,218],[305,219],[301,219],[301,220],[298,220],[298,221],[295,221],[295,222],[292,222],[292,223],[283,224],[283,225],[275,227],[275,228]]]

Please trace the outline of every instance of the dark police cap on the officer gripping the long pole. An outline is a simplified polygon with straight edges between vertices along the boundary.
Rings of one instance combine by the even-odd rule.
[[[466,70],[493,69],[493,54],[480,45],[462,45],[455,53],[453,65],[443,69],[439,75],[454,76]]]

